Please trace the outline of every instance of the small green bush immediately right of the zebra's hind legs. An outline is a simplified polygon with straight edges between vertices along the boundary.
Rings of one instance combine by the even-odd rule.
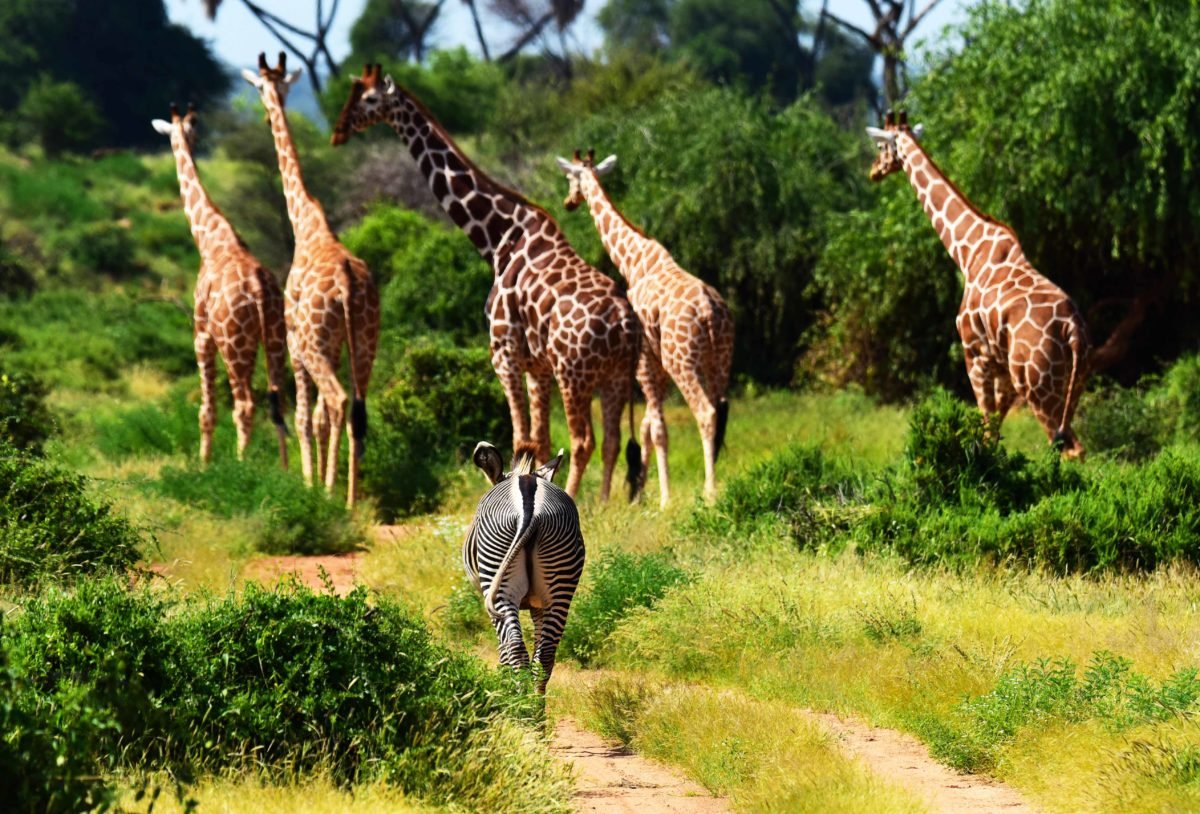
[[[688,573],[670,555],[605,551],[590,565],[590,587],[571,603],[571,612],[559,642],[559,653],[583,666],[596,663],[608,635],[634,609],[650,607]]]

